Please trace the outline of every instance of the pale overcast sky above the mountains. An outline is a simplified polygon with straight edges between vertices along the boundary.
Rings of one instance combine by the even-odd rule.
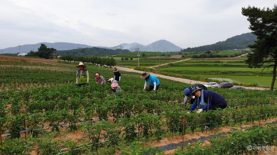
[[[0,0],[0,49],[41,42],[113,47],[167,40],[181,48],[251,32],[242,8],[273,0]]]

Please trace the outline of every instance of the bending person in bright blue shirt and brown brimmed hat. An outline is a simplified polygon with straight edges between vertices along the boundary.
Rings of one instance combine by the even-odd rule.
[[[150,75],[149,73],[144,72],[142,74],[142,76],[140,76],[142,79],[145,79],[145,84],[144,84],[144,89],[146,89],[147,87],[147,83],[149,83],[149,87],[147,89],[147,91],[151,91],[151,90],[158,90],[160,87],[160,81],[159,79],[154,76],[154,75]]]

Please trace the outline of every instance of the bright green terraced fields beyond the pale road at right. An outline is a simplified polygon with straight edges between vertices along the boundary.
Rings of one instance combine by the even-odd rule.
[[[272,81],[273,68],[248,68],[242,58],[235,60],[191,59],[188,61],[172,63],[152,70],[155,73],[198,80],[206,82],[232,82],[235,85],[261,86],[269,88]],[[245,59],[245,58],[244,58]],[[277,85],[275,84],[276,88]]]

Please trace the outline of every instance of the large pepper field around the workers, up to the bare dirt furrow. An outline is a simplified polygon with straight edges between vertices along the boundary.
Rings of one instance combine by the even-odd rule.
[[[1,75],[1,80],[10,79],[1,81],[7,86],[0,92],[4,154],[112,154],[133,141],[159,141],[183,131],[204,131],[206,125],[213,129],[277,116],[274,91],[212,89],[226,98],[228,107],[187,114],[191,105],[181,103],[188,84],[160,78],[160,89],[147,92],[138,73],[120,71],[121,91],[113,93],[109,83],[96,84],[93,76],[89,86],[76,87],[75,66],[10,65],[3,66]],[[87,69],[90,75],[113,77],[109,68]]]

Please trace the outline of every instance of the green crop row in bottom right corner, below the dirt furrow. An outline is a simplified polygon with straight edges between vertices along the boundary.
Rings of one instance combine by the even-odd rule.
[[[203,145],[200,141],[189,144],[184,150],[174,154],[257,154],[257,151],[274,151],[277,127],[275,124],[268,124],[229,134],[208,139],[209,145]]]

